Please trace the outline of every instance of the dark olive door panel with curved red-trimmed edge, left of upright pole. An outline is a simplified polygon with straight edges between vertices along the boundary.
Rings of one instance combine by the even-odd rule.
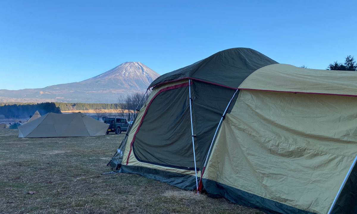
[[[142,162],[195,169],[188,86],[159,93],[150,103],[133,152]]]

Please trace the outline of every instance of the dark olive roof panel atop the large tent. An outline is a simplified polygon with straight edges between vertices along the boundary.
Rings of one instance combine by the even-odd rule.
[[[156,78],[149,88],[164,82],[188,77],[237,88],[252,72],[276,63],[276,61],[253,49],[232,48],[220,51],[176,71],[165,73]]]

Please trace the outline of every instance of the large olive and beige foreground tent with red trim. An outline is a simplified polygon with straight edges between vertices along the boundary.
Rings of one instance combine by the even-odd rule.
[[[271,214],[356,213],[356,72],[235,48],[149,87],[110,161],[116,172]]]

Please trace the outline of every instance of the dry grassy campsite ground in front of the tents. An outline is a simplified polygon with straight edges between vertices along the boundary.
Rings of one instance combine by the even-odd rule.
[[[0,129],[0,213],[263,214],[135,174],[100,175],[110,170],[106,163],[124,134],[17,135]]]

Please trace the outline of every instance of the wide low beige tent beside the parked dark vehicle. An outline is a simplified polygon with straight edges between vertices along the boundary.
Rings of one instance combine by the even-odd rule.
[[[47,113],[19,127],[19,137],[90,137],[106,135],[109,124],[82,113]]]

